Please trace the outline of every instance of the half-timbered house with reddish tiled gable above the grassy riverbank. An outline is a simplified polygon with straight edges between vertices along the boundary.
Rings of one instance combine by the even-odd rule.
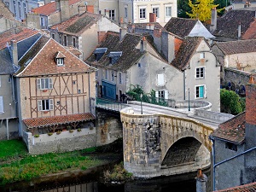
[[[29,152],[95,146],[95,68],[44,36],[19,66],[15,77],[20,133]]]

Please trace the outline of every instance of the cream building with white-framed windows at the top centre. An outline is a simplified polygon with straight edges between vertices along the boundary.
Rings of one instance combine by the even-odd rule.
[[[112,20],[125,23],[149,22],[149,13],[154,13],[156,21],[164,26],[172,17],[177,17],[177,0],[100,0],[99,11],[100,14],[107,15]]]

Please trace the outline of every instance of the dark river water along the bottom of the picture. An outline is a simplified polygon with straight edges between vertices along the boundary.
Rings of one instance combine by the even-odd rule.
[[[210,170],[205,171],[208,182],[207,191],[210,191]],[[51,184],[16,183],[0,188],[1,192],[195,192],[196,172],[188,174],[158,177],[148,180],[135,180],[125,184],[104,184],[98,177],[76,177],[69,182],[60,183],[51,181]]]

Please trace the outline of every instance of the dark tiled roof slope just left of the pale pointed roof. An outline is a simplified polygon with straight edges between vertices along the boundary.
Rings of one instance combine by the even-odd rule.
[[[167,32],[172,32],[173,34],[184,38],[189,35],[197,21],[198,20],[172,17],[164,27]]]

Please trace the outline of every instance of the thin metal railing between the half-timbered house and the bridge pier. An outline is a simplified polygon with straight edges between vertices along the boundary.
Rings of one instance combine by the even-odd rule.
[[[112,111],[120,111],[122,108],[129,107],[127,104],[123,102],[116,102],[107,99],[96,98],[96,108],[104,108]]]

